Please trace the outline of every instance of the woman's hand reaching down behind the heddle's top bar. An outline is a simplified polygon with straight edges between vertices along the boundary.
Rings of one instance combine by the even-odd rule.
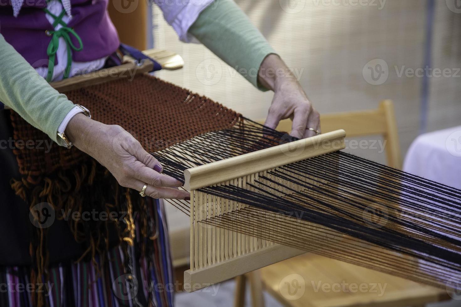
[[[275,129],[282,119],[291,118],[290,135],[302,139],[320,131],[320,115],[307,98],[301,84],[276,54],[268,55],[261,64],[258,81],[274,91],[265,125]]]

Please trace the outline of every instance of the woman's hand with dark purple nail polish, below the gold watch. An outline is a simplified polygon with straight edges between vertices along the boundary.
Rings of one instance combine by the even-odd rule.
[[[81,151],[104,165],[124,187],[154,198],[189,199],[189,192],[177,189],[182,183],[160,174],[162,166],[122,127],[94,121],[83,114],[74,116],[65,129],[66,136]]]

